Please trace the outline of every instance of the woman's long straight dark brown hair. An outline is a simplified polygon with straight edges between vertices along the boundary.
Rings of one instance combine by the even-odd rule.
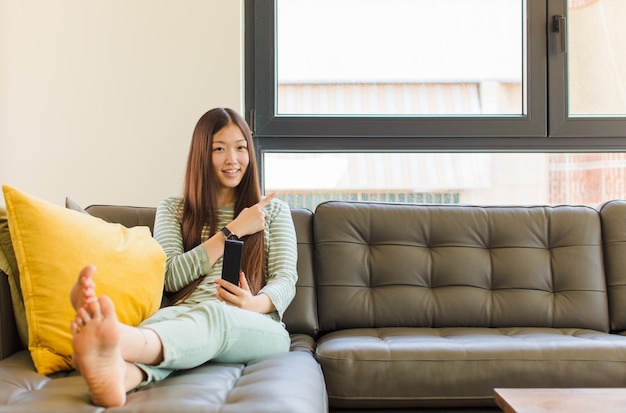
[[[209,225],[209,233],[219,230],[217,196],[219,182],[214,173],[212,146],[213,136],[229,124],[241,129],[248,145],[250,161],[239,185],[235,188],[234,216],[261,200],[259,174],[252,134],[245,119],[228,108],[211,109],[198,120],[191,138],[187,157],[187,171],[183,189],[184,208],[181,220],[183,246],[185,251],[200,245],[202,228]],[[265,285],[265,242],[263,231],[243,238],[244,248],[242,271],[246,274],[252,294],[257,294]],[[184,300],[200,284],[204,277],[197,279],[170,299],[176,303]]]

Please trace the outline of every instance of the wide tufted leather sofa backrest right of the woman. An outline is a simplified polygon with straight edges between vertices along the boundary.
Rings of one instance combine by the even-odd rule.
[[[331,201],[317,207],[314,224],[322,333],[396,326],[609,329],[593,208]]]

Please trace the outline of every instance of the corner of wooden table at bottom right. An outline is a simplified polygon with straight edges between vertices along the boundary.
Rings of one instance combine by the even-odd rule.
[[[495,389],[494,397],[505,413],[626,412],[626,388]]]

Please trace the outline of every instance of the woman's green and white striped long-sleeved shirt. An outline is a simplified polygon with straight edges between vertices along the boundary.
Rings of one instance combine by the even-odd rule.
[[[265,293],[272,300],[282,319],[287,306],[296,292],[298,274],[296,232],[289,206],[284,201],[272,199],[265,207],[265,254],[267,284],[259,293]],[[202,244],[185,252],[181,229],[183,199],[165,198],[157,207],[154,223],[154,238],[166,255],[165,290],[178,291],[193,280],[206,275],[205,279],[182,305],[194,305],[205,300],[215,300],[213,280],[222,275],[222,257],[210,265],[207,250]],[[218,228],[229,224],[233,219],[232,206],[218,210]],[[202,241],[207,240],[208,225],[202,230]]]

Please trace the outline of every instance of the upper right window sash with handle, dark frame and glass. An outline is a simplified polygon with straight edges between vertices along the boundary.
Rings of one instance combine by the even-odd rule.
[[[626,2],[549,1],[547,11],[548,136],[582,137],[588,148],[624,150]],[[618,139],[599,139],[605,137]],[[563,146],[570,145],[575,146],[564,140]]]

